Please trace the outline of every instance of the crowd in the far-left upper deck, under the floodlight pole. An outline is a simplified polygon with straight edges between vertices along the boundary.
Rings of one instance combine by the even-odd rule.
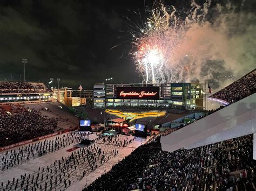
[[[49,93],[51,89],[43,83],[0,82],[0,94],[10,93]]]

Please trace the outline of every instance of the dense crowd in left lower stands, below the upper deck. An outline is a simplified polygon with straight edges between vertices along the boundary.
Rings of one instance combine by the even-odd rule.
[[[0,147],[53,133],[62,121],[60,117],[42,116],[35,109],[19,107],[11,113],[0,108]]]

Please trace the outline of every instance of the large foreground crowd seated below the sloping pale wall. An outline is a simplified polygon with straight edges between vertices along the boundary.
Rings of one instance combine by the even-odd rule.
[[[84,190],[254,190],[252,139],[248,135],[170,153],[161,151],[158,136]]]

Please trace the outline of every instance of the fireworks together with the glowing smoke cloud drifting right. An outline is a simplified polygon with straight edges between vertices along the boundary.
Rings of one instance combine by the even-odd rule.
[[[131,54],[143,82],[198,80],[218,87],[217,76],[241,76],[253,69],[256,16],[243,11],[246,3],[192,1],[185,16],[184,10],[159,3],[144,25],[137,25],[139,32],[131,31]]]

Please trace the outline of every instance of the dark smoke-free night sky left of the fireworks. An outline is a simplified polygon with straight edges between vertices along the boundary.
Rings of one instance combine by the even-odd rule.
[[[83,88],[113,77],[111,83],[142,82],[129,52],[130,23],[142,17],[148,0],[2,0],[0,1],[0,66],[3,80],[23,79],[22,58],[28,59],[26,80],[53,86]],[[170,3],[171,2],[171,3]],[[203,1],[201,1],[203,2]],[[184,10],[188,1],[167,1]],[[116,46],[118,45],[118,46]],[[112,48],[116,46],[115,48]],[[2,77],[0,76],[0,77]]]

